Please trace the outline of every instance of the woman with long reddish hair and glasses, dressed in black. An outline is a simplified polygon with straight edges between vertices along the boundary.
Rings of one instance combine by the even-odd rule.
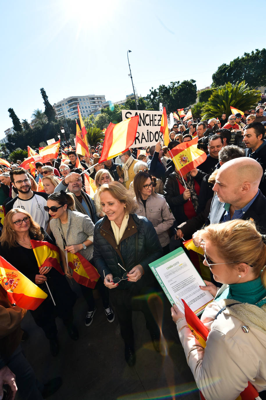
[[[56,356],[59,351],[56,315],[62,318],[69,336],[73,340],[78,338],[77,328],[73,325],[72,312],[76,296],[71,291],[66,278],[55,268],[44,266],[39,269],[32,250],[31,239],[52,243],[48,234],[32,220],[27,211],[13,208],[4,219],[0,238],[0,255],[46,293],[48,290],[45,282],[52,290],[56,306],[48,293],[48,297],[42,304],[30,312],[36,324],[44,330],[46,338],[50,341],[51,354]]]

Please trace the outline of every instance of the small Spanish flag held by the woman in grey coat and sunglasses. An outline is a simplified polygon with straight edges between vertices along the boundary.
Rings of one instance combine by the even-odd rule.
[[[87,288],[95,288],[99,279],[99,274],[94,266],[87,261],[81,254],[67,252],[68,266],[73,270],[75,281]]]

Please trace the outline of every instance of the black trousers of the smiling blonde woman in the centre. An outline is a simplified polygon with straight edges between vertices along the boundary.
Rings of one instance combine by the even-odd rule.
[[[139,290],[134,284],[132,284],[130,289],[126,290],[109,290],[111,302],[115,307],[115,315],[120,324],[121,336],[127,346],[134,347],[132,311],[143,312],[146,320],[146,328],[150,334],[154,334],[158,339],[160,337],[160,330],[147,301],[149,291],[149,288]]]

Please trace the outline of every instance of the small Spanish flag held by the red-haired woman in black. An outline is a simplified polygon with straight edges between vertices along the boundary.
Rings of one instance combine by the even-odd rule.
[[[30,244],[39,268],[53,267],[64,275],[60,265],[60,250],[57,246],[42,240],[31,240]]]

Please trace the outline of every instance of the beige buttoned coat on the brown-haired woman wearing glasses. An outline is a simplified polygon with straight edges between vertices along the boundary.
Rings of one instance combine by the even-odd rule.
[[[170,242],[167,230],[173,226],[175,218],[165,198],[159,194],[149,196],[146,202],[146,210],[141,200],[137,200],[137,204],[136,214],[146,217],[152,222],[161,246],[167,246]]]

